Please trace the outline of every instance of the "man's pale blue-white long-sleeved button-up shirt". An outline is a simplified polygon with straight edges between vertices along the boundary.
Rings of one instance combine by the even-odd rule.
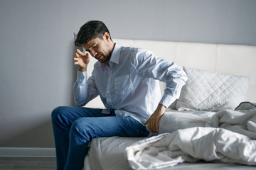
[[[163,96],[158,80],[166,82]],[[73,87],[75,103],[85,106],[100,95],[106,107],[102,113],[114,109],[117,116],[130,115],[144,124],[159,103],[168,107],[179,97],[186,80],[186,73],[174,62],[148,50],[116,44],[109,65],[97,61],[89,79],[87,72],[78,71]]]

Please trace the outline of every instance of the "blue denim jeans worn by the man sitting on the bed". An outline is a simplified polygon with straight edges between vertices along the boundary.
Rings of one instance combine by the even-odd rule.
[[[52,113],[57,169],[81,170],[90,140],[95,137],[145,137],[144,125],[134,118],[117,117],[102,109],[61,106]]]

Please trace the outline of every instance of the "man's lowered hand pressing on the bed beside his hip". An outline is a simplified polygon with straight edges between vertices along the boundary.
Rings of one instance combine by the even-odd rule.
[[[159,132],[159,120],[164,115],[164,112],[166,110],[166,106],[159,104],[157,106],[156,111],[150,116],[148,120],[146,120],[146,123],[144,125],[148,125],[148,129],[151,132]]]

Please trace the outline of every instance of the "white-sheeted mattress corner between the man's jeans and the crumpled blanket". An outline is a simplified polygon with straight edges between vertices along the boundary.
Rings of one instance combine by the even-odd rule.
[[[145,137],[99,137],[92,140],[84,170],[131,170],[125,149]]]

